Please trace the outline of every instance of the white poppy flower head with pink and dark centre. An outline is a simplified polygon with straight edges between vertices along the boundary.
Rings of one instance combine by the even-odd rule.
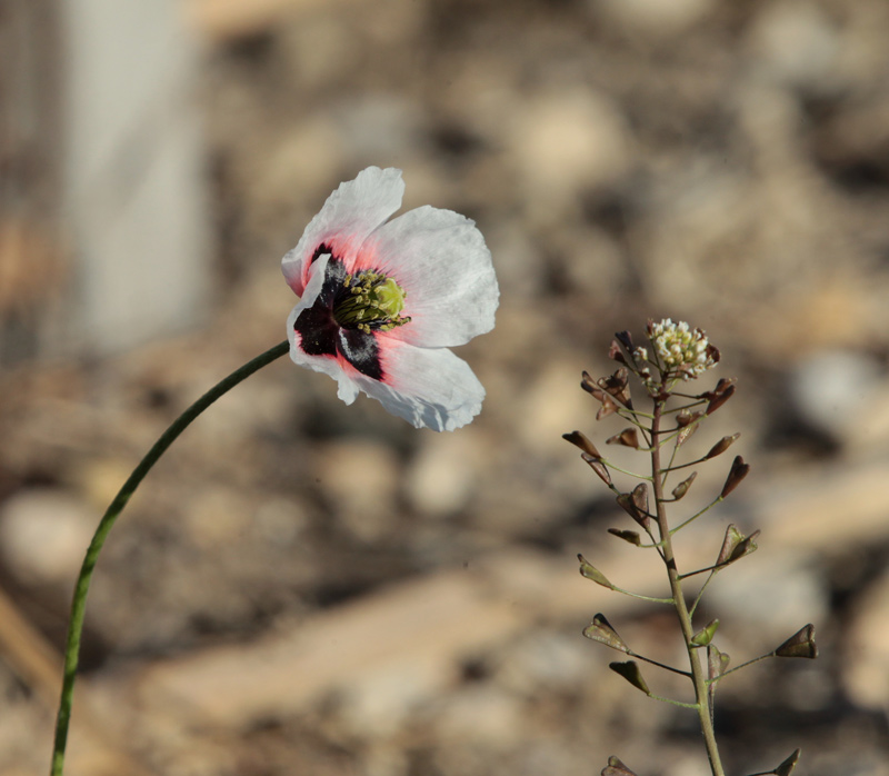
[[[341,183],[281,268],[301,297],[287,320],[290,357],[361,390],[417,428],[451,431],[485,388],[449,347],[493,328],[499,289],[475,222],[401,207],[401,170],[369,167]]]

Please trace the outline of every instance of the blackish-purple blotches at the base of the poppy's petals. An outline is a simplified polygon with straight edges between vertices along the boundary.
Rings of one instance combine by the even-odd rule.
[[[333,316],[333,308],[349,295],[346,287],[346,267],[321,243],[312,255],[314,261],[322,253],[331,253],[327,262],[324,282],[314,304],[297,317],[293,330],[301,338],[302,351],[308,356],[342,356],[358,371],[374,380],[382,380],[380,347],[373,331],[367,334],[354,327],[341,325]]]

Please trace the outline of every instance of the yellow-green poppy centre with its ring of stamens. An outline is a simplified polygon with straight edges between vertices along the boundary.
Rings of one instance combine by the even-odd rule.
[[[372,269],[347,275],[333,302],[333,318],[364,334],[390,331],[410,322],[410,316],[401,315],[407,296],[394,278]]]

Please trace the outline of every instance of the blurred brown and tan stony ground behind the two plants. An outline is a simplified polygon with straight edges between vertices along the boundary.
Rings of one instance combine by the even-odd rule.
[[[481,416],[417,431],[287,359],[213,407],[103,550],[67,773],[709,773],[695,715],[581,636],[603,611],[681,660],[669,610],[577,574],[663,595],[560,438],[620,430],[580,371],[672,317],[722,351],[701,389],[739,379],[690,455],[740,431],[753,467],[680,563],[762,529],[701,621],[733,665],[821,648],[720,685],[729,769],[889,774],[887,40],[885,0],[3,0],[0,772],[48,768],[99,515],[283,339],[280,257],[378,165],[491,248]]]

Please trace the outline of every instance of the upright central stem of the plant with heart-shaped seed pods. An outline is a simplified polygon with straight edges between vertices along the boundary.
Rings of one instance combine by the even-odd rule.
[[[667,523],[667,510],[663,498],[663,478],[666,471],[661,469],[660,445],[658,444],[661,435],[660,421],[663,415],[663,404],[665,401],[661,399],[655,401],[655,418],[651,421],[651,438],[653,440],[651,450],[652,488],[655,491],[655,504],[657,505],[658,528],[662,541],[662,557],[667,566],[667,575],[670,579],[670,591],[672,593],[676,614],[679,617],[679,627],[682,629],[682,637],[686,641],[689,665],[691,667],[691,680],[695,685],[695,698],[697,700],[692,708],[697,708],[698,710],[698,719],[700,720],[701,733],[703,734],[703,744],[707,748],[707,757],[710,760],[710,770],[713,776],[726,776],[716,743],[707,677],[701,666],[700,657],[698,656],[698,649],[691,643],[695,630],[691,625],[691,616],[686,606],[685,596],[682,595],[682,584],[673,554],[672,533]]]

